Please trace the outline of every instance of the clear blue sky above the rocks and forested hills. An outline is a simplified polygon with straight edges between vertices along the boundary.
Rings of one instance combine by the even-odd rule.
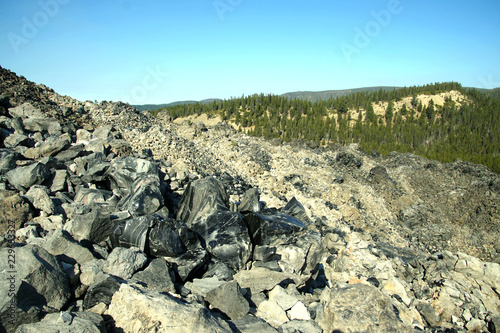
[[[0,65],[79,100],[500,86],[500,1],[4,0]]]

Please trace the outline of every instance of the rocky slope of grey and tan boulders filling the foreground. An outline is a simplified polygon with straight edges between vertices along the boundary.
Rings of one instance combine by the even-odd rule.
[[[487,168],[177,124],[0,72],[0,271],[23,258],[7,331],[499,329]]]

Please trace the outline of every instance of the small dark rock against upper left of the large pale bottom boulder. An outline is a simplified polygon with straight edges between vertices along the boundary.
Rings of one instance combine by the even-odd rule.
[[[83,308],[85,310],[91,309],[99,303],[109,305],[113,295],[120,289],[120,285],[125,283],[124,280],[116,276],[107,274],[100,274],[87,290],[83,300]]]

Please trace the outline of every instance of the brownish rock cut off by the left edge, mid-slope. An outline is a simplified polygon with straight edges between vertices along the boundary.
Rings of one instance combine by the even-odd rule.
[[[27,201],[13,191],[0,190],[0,235],[14,234],[33,218]]]

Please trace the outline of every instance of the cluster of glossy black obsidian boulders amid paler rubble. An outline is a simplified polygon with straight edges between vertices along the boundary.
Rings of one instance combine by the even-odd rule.
[[[261,211],[261,206],[258,190],[249,189],[231,211],[223,183],[206,177],[188,184],[177,219],[150,214],[120,221],[111,229],[110,242],[113,248],[138,247],[150,256],[165,257],[183,281],[202,277],[210,262],[223,264],[212,264],[212,275],[228,276],[227,268],[232,274],[245,268],[255,245],[307,229],[299,218],[306,223],[309,219],[295,198],[278,213]],[[213,271],[217,267],[220,272]]]

